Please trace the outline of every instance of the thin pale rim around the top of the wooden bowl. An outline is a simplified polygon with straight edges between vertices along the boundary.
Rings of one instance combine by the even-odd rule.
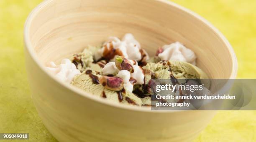
[[[51,77],[51,79],[53,79],[55,82],[59,83],[59,85],[66,87],[67,89],[71,90],[72,92],[74,92],[76,95],[80,95],[82,97],[87,97],[88,99],[95,101],[97,103],[102,103],[104,105],[108,105],[110,107],[118,107],[120,109],[124,109],[124,110],[133,110],[133,111],[138,111],[138,112],[150,112],[150,113],[170,113],[170,112],[182,112],[185,110],[161,110],[161,111],[157,111],[157,110],[151,110],[151,107],[137,107],[137,106],[133,106],[133,105],[123,105],[117,102],[113,102],[110,100],[103,100],[100,97],[97,97],[95,95],[90,94],[89,92],[83,91],[77,87],[74,87],[72,85],[67,84],[66,82],[62,82],[61,80],[59,80],[57,77],[55,77],[54,75],[52,75],[50,72],[48,72],[45,68],[45,66],[40,62],[40,60],[38,59],[35,50],[33,49],[33,46],[31,44],[30,38],[29,38],[29,31],[30,31],[30,27],[31,27],[31,22],[33,20],[33,18],[38,14],[38,12],[40,12],[40,10],[43,7],[46,7],[49,3],[53,2],[54,0],[44,0],[43,2],[41,2],[39,5],[37,5],[32,11],[31,13],[28,15],[25,25],[24,25],[24,45],[26,50],[28,51],[28,54],[31,56],[31,58],[34,60],[34,62],[36,62],[36,64],[38,65],[38,67],[44,72],[46,73],[46,75],[48,75],[49,77]],[[211,28],[216,35],[218,35],[223,42],[225,43],[226,47],[228,48],[230,55],[232,57],[232,67],[233,70],[231,72],[230,78],[236,78],[237,75],[237,70],[238,70],[238,63],[237,63],[237,58],[236,58],[236,54],[232,48],[232,46],[230,45],[230,43],[228,42],[228,40],[226,39],[226,37],[216,28],[214,27],[210,22],[208,22],[207,20],[205,20],[205,18],[201,17],[200,15],[198,15],[195,12],[192,12],[191,10],[182,7],[174,2],[170,2],[168,0],[155,0],[158,2],[162,2],[166,5],[170,5],[172,7],[176,7],[179,10],[182,10],[184,12],[186,12],[188,15],[195,17],[199,20],[201,20],[201,22],[203,22],[205,25],[207,25],[209,28]]]

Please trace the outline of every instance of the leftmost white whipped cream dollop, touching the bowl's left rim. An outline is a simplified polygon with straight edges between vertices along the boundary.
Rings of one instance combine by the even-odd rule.
[[[54,62],[49,63],[49,67],[46,69],[53,73],[59,80],[63,82],[71,83],[75,75],[81,74],[77,67],[69,60],[61,60],[60,65],[56,65]]]

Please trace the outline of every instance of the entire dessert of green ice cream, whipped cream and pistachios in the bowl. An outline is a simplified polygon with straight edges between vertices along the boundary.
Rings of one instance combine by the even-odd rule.
[[[66,65],[68,64],[68,65]],[[207,75],[196,65],[192,50],[179,42],[164,45],[149,57],[132,34],[110,37],[102,47],[88,46],[48,70],[92,95],[127,105],[150,106],[154,79],[201,79]]]

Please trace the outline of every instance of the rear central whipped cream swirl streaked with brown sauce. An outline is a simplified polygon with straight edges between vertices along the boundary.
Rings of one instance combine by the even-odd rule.
[[[120,56],[127,59],[136,61],[140,61],[142,59],[140,52],[141,45],[131,33],[125,34],[122,40],[118,39],[118,37],[109,37],[108,41],[103,44],[103,47],[95,53],[95,60],[99,60],[101,57],[103,57],[104,52],[110,51],[111,48],[119,50],[122,54]],[[146,59],[148,60],[148,54],[145,52],[145,50],[143,50],[143,52],[146,54]],[[115,57],[112,59],[115,59]]]

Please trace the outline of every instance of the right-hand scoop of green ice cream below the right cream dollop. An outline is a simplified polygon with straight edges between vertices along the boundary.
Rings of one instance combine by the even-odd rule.
[[[201,69],[187,62],[165,60],[157,63],[149,62],[143,67],[145,72],[145,84],[148,85],[151,79],[170,79],[172,77],[176,79],[206,79],[208,78],[205,72]],[[179,80],[181,81],[181,80]],[[179,82],[183,83],[183,82]],[[205,86],[209,86],[209,82],[204,82]],[[147,88],[146,91],[148,91]],[[151,95],[149,92],[145,92],[145,86],[136,86],[136,92],[143,92],[144,96]],[[142,99],[143,105],[151,105],[151,98],[144,97]]]

